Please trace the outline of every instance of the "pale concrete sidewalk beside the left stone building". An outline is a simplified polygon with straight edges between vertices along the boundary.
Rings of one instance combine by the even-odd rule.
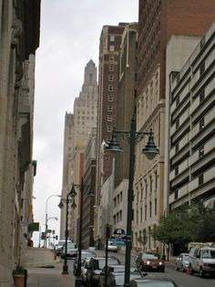
[[[70,267],[70,261],[68,264]],[[23,265],[28,274],[27,287],[75,287],[72,271],[62,275],[63,260],[55,260],[52,250],[28,247]]]

